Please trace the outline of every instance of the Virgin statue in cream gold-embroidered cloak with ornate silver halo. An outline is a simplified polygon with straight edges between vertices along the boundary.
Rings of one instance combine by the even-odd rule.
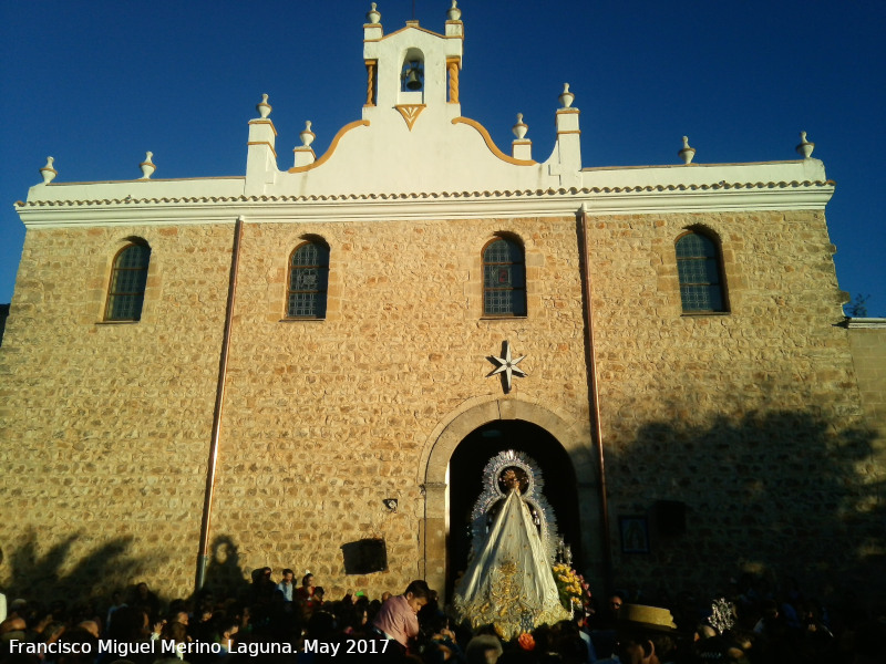
[[[486,464],[483,486],[471,515],[467,570],[453,598],[460,620],[493,624],[509,640],[568,619],[552,571],[556,526],[535,463],[502,452]]]

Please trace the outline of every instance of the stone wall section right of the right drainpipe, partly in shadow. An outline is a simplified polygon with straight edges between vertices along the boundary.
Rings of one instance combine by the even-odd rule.
[[[673,242],[694,225],[722,242],[729,314],[681,314]],[[837,325],[824,215],[605,217],[590,236],[616,583],[863,577],[883,544],[884,458]],[[626,516],[648,519],[649,553],[621,552]]]

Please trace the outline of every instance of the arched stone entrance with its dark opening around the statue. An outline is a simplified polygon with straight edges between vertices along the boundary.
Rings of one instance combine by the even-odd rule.
[[[454,567],[462,556],[457,541],[463,539],[463,531],[459,530],[463,513],[451,518],[451,512],[463,510],[465,502],[468,510],[473,507],[483,465],[499,452],[499,446],[525,452],[539,464],[546,477],[545,496],[558,521],[563,520],[558,528],[580,556],[576,562],[589,578],[600,574],[604,556],[599,474],[587,421],[570,422],[549,408],[518,398],[486,397],[464,404],[442,422],[422,454],[420,481],[425,505],[420,531],[421,572],[429,584],[450,596]],[[480,469],[472,479],[471,469],[476,465]],[[559,483],[556,478],[564,475],[568,480]],[[552,495],[550,488],[558,484],[569,484],[571,488],[554,488]]]

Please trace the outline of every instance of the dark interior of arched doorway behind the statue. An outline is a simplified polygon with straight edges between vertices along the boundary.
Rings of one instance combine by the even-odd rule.
[[[471,510],[483,488],[483,468],[505,449],[526,454],[542,469],[544,496],[557,519],[557,530],[573,550],[573,567],[580,569],[578,490],[569,455],[542,427],[521,419],[498,419],[465,436],[450,459],[447,598],[459,573],[467,567]]]

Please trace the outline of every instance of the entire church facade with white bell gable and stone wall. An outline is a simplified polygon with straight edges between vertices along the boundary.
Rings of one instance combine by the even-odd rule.
[[[176,596],[267,564],[447,594],[512,448],[596,590],[864,578],[886,456],[811,144],[587,168],[567,86],[538,162],[462,115],[457,8],[363,31],[362,117],[324,154],[306,126],[281,168],[265,97],[245,176],[50,163],[18,205],[0,582]]]

